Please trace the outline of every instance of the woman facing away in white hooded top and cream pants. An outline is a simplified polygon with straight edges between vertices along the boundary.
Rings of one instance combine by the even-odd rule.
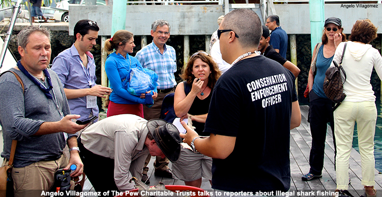
[[[382,77],[381,53],[369,43],[377,38],[377,28],[369,19],[358,20],[351,29],[342,61],[346,72],[344,93],[346,98],[334,111],[334,128],[337,143],[337,190],[347,190],[349,158],[352,147],[354,123],[357,122],[358,147],[361,154],[362,180],[367,197],[375,197],[374,189],[374,135],[377,121],[373,87],[370,77],[373,68]],[[338,45],[333,61],[340,64],[345,43]],[[334,63],[330,65],[334,67]],[[344,74],[342,73],[344,79]],[[355,189],[355,188],[354,188]]]

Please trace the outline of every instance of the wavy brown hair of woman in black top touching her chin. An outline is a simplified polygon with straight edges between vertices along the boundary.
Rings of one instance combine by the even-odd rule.
[[[183,66],[182,74],[180,74],[180,77],[187,81],[187,83],[190,85],[193,83],[195,76],[192,74],[192,67],[196,59],[200,59],[201,61],[207,63],[208,66],[210,66],[211,73],[208,76],[207,86],[213,89],[220,75],[222,75],[222,72],[220,71],[218,64],[216,64],[215,61],[204,51],[198,51],[190,58],[187,65]]]

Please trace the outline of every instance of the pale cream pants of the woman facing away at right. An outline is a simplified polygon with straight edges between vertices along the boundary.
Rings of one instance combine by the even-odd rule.
[[[349,159],[353,140],[354,122],[357,122],[358,147],[361,154],[362,181],[364,186],[374,186],[374,134],[377,108],[374,101],[345,101],[334,111],[336,136],[337,189],[349,188]]]

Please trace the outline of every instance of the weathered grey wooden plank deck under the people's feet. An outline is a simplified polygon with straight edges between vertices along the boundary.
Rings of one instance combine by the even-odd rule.
[[[306,194],[300,195],[300,197],[331,197],[332,195],[318,194],[318,191],[333,192],[336,189],[336,172],[334,170],[334,145],[333,136],[330,127],[328,126],[326,134],[325,144],[325,156],[324,156],[324,169],[322,171],[322,178],[312,181],[302,181],[301,176],[309,172],[309,153],[312,145],[312,136],[310,133],[309,123],[307,121],[309,106],[301,105],[302,121],[298,128],[290,131],[290,191],[297,192],[310,192],[314,191],[315,195]],[[152,157],[149,163],[150,186],[157,185],[159,181],[166,185],[184,185],[184,182],[179,179],[169,179],[157,177],[154,175],[153,163],[155,157]],[[171,168],[171,163],[169,164]],[[245,173],[245,171],[243,171]],[[349,186],[350,193],[355,197],[364,195],[363,186],[361,185],[361,159],[359,153],[355,150],[351,150],[350,154],[350,170],[349,170],[351,184]],[[377,190],[377,197],[382,197],[382,174],[379,174],[378,170],[375,170],[375,189]],[[202,189],[211,190],[210,182],[206,179],[202,179]],[[85,182],[84,191],[92,190],[91,183]]]

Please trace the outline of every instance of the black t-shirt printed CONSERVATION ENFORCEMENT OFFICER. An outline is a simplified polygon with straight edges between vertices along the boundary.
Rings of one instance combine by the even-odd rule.
[[[289,189],[289,129],[296,100],[292,72],[263,56],[241,60],[220,77],[204,131],[236,136],[236,142],[226,159],[213,159],[212,188]]]

